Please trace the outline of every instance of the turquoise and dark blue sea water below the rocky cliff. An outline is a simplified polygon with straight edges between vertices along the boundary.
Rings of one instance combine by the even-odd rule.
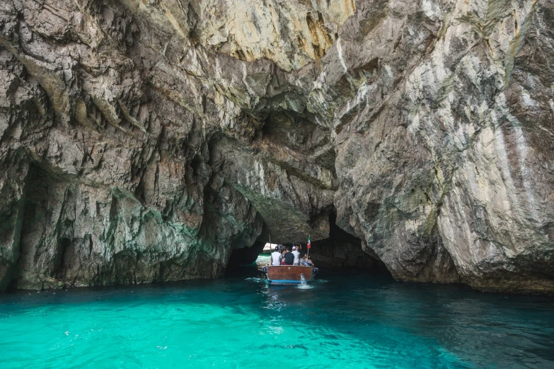
[[[554,368],[553,298],[245,270],[0,295],[0,368]]]

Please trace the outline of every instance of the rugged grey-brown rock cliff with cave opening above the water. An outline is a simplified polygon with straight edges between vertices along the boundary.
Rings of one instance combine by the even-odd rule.
[[[2,1],[0,290],[336,214],[398,280],[554,291],[553,60],[553,0]]]

